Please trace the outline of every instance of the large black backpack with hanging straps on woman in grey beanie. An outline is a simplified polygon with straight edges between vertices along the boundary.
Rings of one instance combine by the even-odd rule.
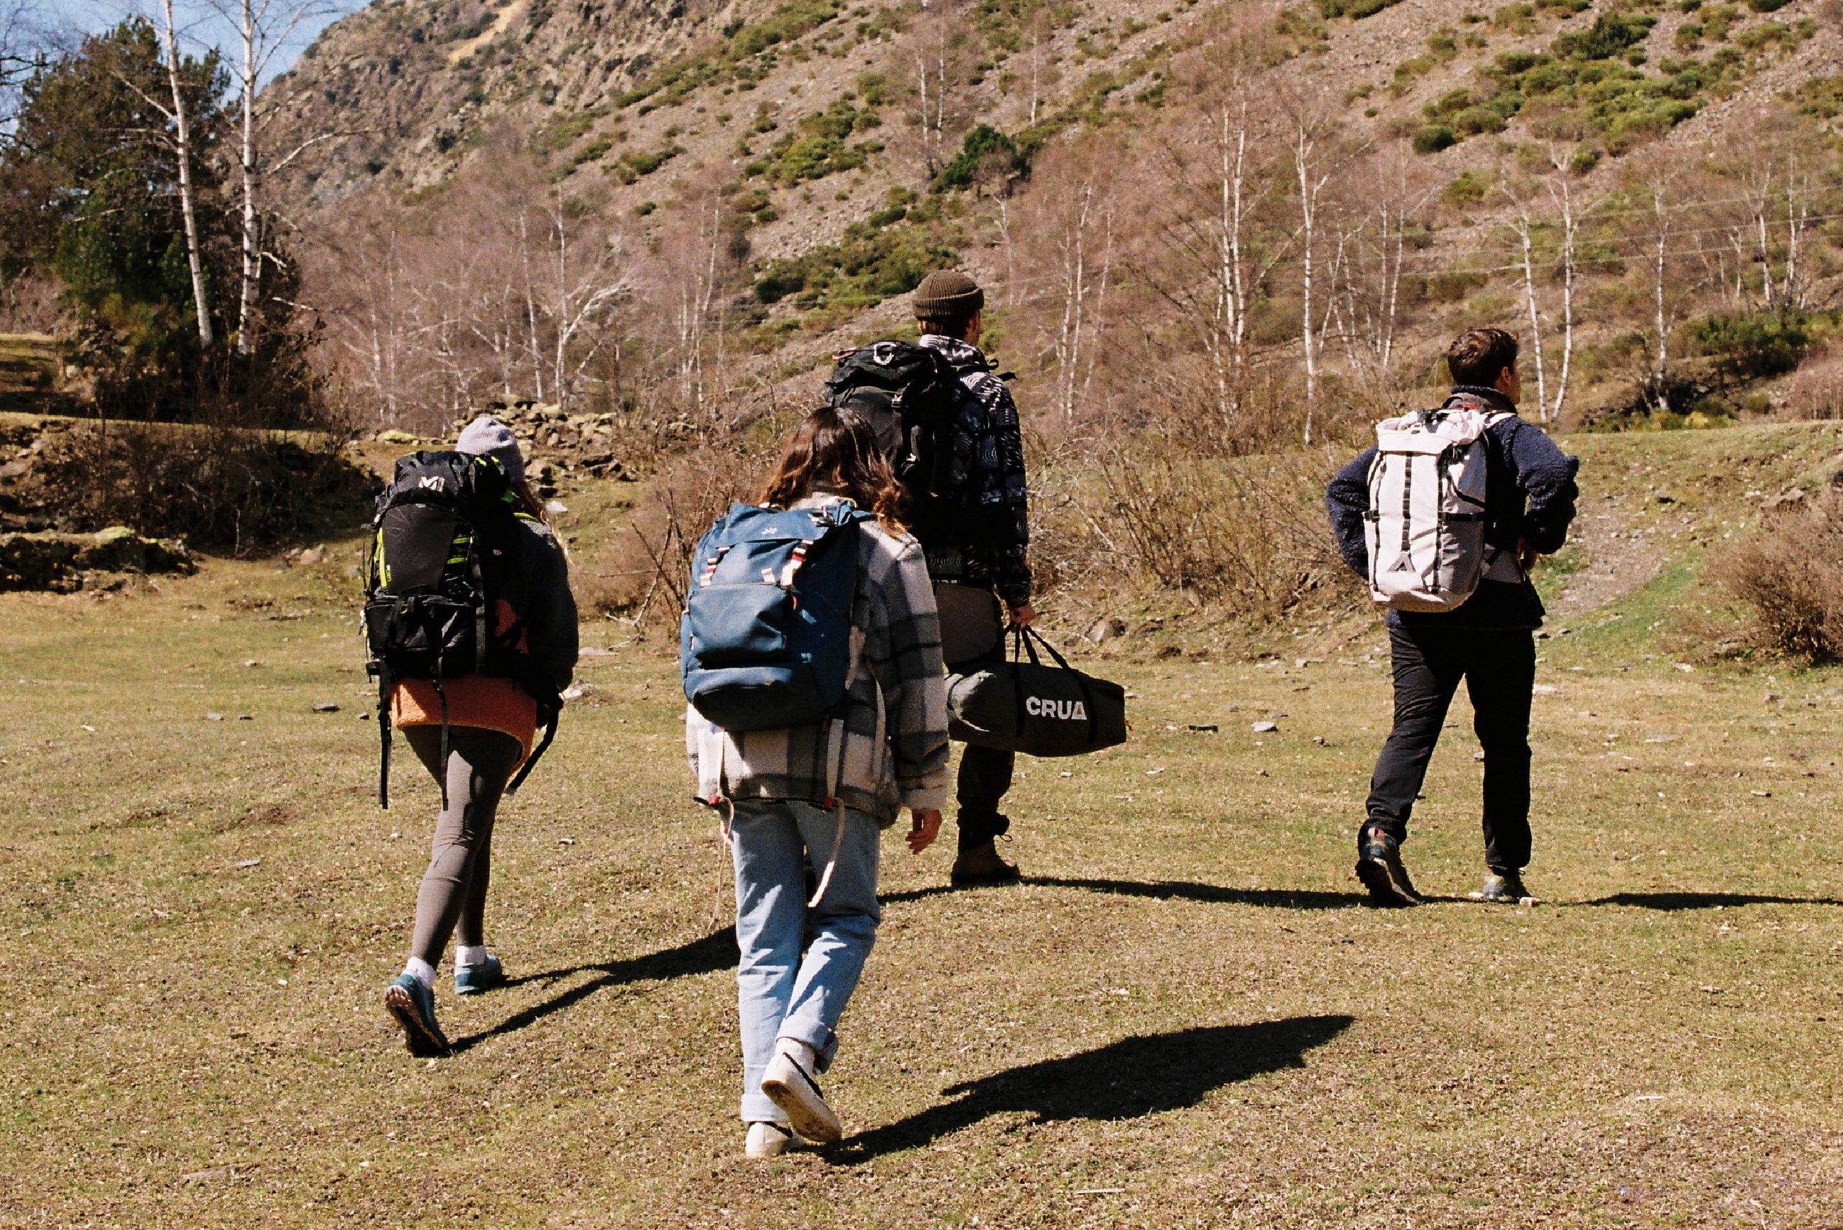
[[[523,637],[523,530],[512,488],[492,457],[411,453],[378,497],[365,563],[365,672],[378,679],[378,805],[391,806],[391,694],[400,679],[429,679],[442,705],[440,764],[448,762],[444,679],[485,674],[516,681],[538,703],[544,740],[505,794],[516,794],[557,737],[562,698]],[[503,633],[499,600],[514,622]],[[442,806],[448,786],[442,783]]]

